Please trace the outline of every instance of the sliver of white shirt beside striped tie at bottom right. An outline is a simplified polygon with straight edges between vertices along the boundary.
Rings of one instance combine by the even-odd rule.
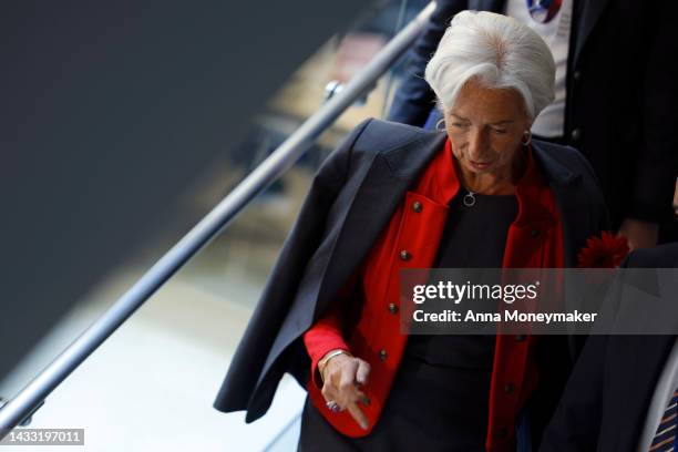
[[[661,421],[669,401],[674,398],[676,388],[678,388],[678,339],[674,342],[674,349],[667,358],[664,370],[657,381],[655,394],[645,418],[645,427],[638,439],[638,452],[647,452],[649,450],[655,433],[657,433],[659,421]]]

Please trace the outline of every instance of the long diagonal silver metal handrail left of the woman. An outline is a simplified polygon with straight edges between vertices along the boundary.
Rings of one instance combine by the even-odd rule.
[[[115,304],[0,409],[0,440],[32,414],[65,378],[101,346],[186,261],[207,245],[261,191],[278,179],[315,140],[414,42],[435,8],[429,3],[340,93],[332,96],[233,192],[155,263]]]

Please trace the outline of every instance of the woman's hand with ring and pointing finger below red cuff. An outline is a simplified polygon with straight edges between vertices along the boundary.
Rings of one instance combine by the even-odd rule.
[[[330,358],[322,369],[322,397],[326,401],[335,401],[340,410],[348,410],[358,424],[367,430],[367,417],[358,407],[358,402],[369,404],[369,399],[360,390],[370,374],[370,364],[349,355],[337,355]]]

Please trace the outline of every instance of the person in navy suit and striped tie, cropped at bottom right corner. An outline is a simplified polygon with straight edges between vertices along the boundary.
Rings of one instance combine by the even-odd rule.
[[[630,253],[620,267],[677,268],[678,243]],[[675,286],[676,280],[672,282]],[[624,306],[633,306],[628,297],[634,292],[610,292],[625,299]],[[590,336],[540,452],[674,451],[677,401],[678,336],[651,331]]]

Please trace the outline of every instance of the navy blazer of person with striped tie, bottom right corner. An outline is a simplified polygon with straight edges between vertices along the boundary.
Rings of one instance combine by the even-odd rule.
[[[639,249],[620,267],[676,268],[678,243]],[[675,336],[590,336],[541,452],[635,452]]]

